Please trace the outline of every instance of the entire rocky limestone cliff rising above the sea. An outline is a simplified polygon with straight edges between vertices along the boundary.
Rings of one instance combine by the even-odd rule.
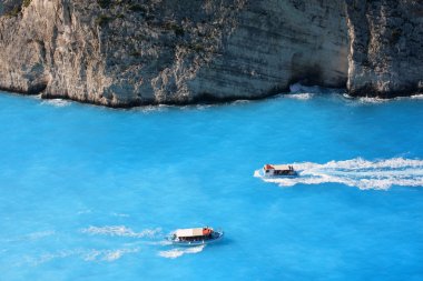
[[[417,91],[421,4],[404,0],[390,13],[390,1],[372,3],[0,0],[0,88],[109,107],[256,99],[298,81],[347,83],[353,94]],[[393,14],[404,22],[392,30],[411,14],[413,31],[386,31]],[[395,43],[375,49],[386,36]],[[380,83],[402,69],[406,77]]]

